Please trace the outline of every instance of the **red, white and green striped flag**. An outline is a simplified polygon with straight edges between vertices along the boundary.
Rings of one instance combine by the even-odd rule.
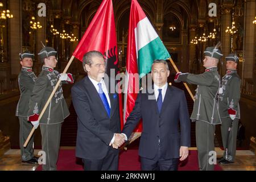
[[[166,60],[168,58],[170,58],[170,54],[158,34],[156,34],[146,14],[137,0],[132,0],[126,60],[125,122],[133,110],[139,90],[139,82],[135,81],[134,73],[138,73],[139,78],[142,78],[151,71],[151,65],[154,60]],[[140,123],[134,131],[141,132],[142,124]]]

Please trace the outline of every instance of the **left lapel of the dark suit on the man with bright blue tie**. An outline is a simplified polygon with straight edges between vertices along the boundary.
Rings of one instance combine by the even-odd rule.
[[[99,96],[95,86],[93,85],[92,81],[90,81],[88,76],[85,78],[85,88],[88,90],[88,94],[90,95],[90,97],[95,98],[95,102],[98,102],[100,104],[101,110],[104,110],[105,114],[108,116],[108,113],[105,109],[105,106],[104,106],[102,100],[101,100],[101,97]]]

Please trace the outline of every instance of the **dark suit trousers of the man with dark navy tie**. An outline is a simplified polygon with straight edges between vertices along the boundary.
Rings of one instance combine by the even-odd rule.
[[[177,171],[179,158],[164,159],[161,156],[161,146],[159,145],[158,152],[153,159],[143,158],[141,156],[142,171]]]

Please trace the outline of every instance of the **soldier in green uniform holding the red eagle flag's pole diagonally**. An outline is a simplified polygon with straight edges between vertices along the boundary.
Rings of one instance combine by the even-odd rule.
[[[38,127],[38,117],[44,105],[46,104],[57,81],[73,82],[72,75],[59,74],[55,71],[57,60],[56,51],[52,47],[44,47],[39,53],[40,60],[44,64],[42,72],[35,82],[32,96],[30,98],[28,121]],[[43,170],[56,170],[56,163],[60,147],[61,123],[69,115],[67,103],[63,97],[62,84],[56,90],[49,105],[40,119],[40,130],[42,135],[42,149],[46,152],[46,164],[43,164]]]

